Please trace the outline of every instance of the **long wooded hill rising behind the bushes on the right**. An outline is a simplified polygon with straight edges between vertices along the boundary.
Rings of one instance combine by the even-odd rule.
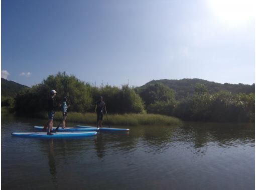
[[[207,90],[210,93],[214,93],[220,90],[226,90],[233,93],[250,93],[255,92],[255,84],[252,85],[249,84],[230,84],[230,83],[217,83],[212,82],[208,80],[198,79],[198,78],[183,78],[180,80],[176,79],[160,79],[160,80],[152,80],[140,87],[137,87],[137,89],[146,87],[149,84],[155,84],[155,83],[162,83],[167,85],[168,87],[172,88],[176,92],[176,98],[181,99],[183,97],[187,97],[193,94],[194,92],[194,86],[196,83],[204,84],[207,88]]]

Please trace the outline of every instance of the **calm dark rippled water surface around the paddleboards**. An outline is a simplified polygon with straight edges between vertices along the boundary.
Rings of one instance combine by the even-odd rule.
[[[11,135],[44,122],[2,116],[2,189],[254,189],[254,123],[130,126],[78,139]]]

